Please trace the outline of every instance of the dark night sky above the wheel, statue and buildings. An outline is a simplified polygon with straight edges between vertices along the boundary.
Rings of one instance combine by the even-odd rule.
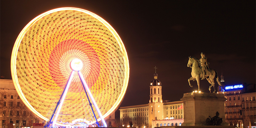
[[[188,56],[204,52],[210,68],[227,85],[256,83],[255,1],[93,1],[1,0],[1,76],[11,77],[11,53],[20,31],[36,16],[60,7],[76,7],[106,20],[128,53],[130,79],[122,106],[147,104],[157,67],[163,100],[177,101],[197,90],[188,85]],[[201,90],[210,84],[200,81]],[[218,87],[218,84],[215,84]]]

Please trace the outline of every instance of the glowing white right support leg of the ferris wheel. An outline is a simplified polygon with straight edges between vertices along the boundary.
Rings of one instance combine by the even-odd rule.
[[[103,123],[104,127],[107,127],[107,124],[106,124],[104,118],[102,117],[102,114],[101,114],[101,112],[100,112],[100,109],[98,108],[98,106],[97,106],[97,104],[96,104],[94,98],[92,97],[92,93],[91,93],[91,91],[89,90],[89,87],[87,86],[87,84],[86,84],[86,82],[85,82],[85,80],[84,80],[83,74],[82,74],[80,71],[78,71],[78,75],[79,75],[79,77],[80,77],[80,79],[81,79],[81,81],[82,81],[82,83],[83,83],[84,89],[86,89],[86,91],[88,92],[88,94],[89,94],[89,96],[90,96],[90,98],[91,98],[91,100],[92,100],[92,103],[93,103],[94,107],[96,108],[96,110],[97,110],[97,112],[98,112],[98,114],[99,114],[99,116],[100,116],[101,122]],[[88,100],[89,100],[89,98],[88,98]],[[93,114],[94,114],[94,111],[92,111],[92,112],[93,112]],[[94,115],[95,115],[95,114],[94,114]],[[95,118],[96,118],[96,117],[95,117]],[[97,119],[96,119],[96,121],[97,121]]]

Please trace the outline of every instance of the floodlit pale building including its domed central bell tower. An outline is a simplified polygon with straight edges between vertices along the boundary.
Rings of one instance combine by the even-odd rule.
[[[162,100],[162,83],[155,72],[149,85],[149,103],[120,107],[120,123],[135,127],[177,126],[184,122],[183,101]]]

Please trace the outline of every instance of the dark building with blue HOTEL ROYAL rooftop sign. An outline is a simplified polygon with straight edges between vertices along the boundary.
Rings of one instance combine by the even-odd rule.
[[[224,88],[225,118],[229,125],[252,126],[256,125],[256,88],[255,84],[226,85],[221,75],[221,83]]]

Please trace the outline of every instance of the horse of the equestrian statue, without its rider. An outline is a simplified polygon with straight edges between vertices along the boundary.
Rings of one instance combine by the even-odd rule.
[[[188,84],[190,87],[193,87],[193,85],[190,84],[190,80],[193,81],[197,81],[197,85],[198,85],[198,91],[200,91],[200,83],[199,83],[199,79],[203,77],[202,74],[202,69],[201,69],[201,65],[200,62],[197,58],[195,57],[188,57],[188,67],[192,68],[191,71],[191,76],[188,79]],[[192,66],[191,66],[192,65]],[[209,91],[211,92],[211,87],[213,86],[214,91],[212,93],[216,93],[216,89],[215,89],[215,83],[214,83],[214,78],[216,77],[216,80],[218,82],[219,85],[221,85],[219,77],[218,77],[218,73],[215,70],[210,70],[211,74],[210,75],[204,75],[207,79],[207,81],[211,84],[211,86],[209,86]]]

